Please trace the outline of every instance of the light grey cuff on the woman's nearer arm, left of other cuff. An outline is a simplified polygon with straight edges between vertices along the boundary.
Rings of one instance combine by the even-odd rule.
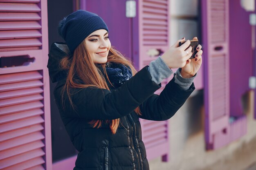
[[[157,60],[150,62],[148,71],[152,77],[152,80],[156,84],[161,83],[163,79],[170,77],[173,73],[173,71],[162,60],[161,56],[159,56]]]

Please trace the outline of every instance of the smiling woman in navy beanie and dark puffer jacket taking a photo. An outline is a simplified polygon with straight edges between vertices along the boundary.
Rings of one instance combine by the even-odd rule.
[[[184,104],[195,89],[201,46],[191,60],[190,42],[178,47],[179,40],[136,73],[112,49],[98,15],[76,11],[60,22],[59,33],[66,43],[52,44],[47,67],[58,82],[54,96],[61,119],[79,151],[74,170],[149,170],[139,118],[167,120]],[[155,95],[171,68],[179,69]]]

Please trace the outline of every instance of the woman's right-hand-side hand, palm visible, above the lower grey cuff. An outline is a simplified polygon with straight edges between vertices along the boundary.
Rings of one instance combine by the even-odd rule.
[[[193,40],[198,40],[197,37],[194,37]],[[195,58],[189,59],[186,61],[186,65],[181,68],[180,74],[183,78],[190,78],[195,75],[195,73],[198,72],[201,64],[202,64],[202,53],[201,50],[202,46],[199,44],[197,46],[197,53],[195,55]]]

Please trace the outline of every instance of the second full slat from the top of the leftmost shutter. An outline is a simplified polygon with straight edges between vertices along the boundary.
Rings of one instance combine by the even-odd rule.
[[[37,21],[40,19],[38,13],[31,12],[3,12],[0,15],[0,21]]]

